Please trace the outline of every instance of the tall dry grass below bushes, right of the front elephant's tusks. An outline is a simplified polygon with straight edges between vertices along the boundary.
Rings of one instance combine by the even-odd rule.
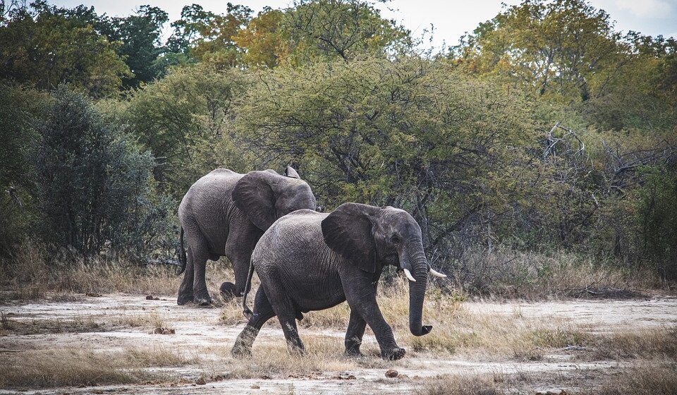
[[[633,298],[645,291],[674,293],[673,283],[662,281],[649,269],[630,270],[563,251],[468,250],[462,262],[445,271],[452,274],[447,284],[484,298]]]

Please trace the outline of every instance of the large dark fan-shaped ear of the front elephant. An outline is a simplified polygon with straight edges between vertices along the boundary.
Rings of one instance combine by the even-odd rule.
[[[322,221],[322,236],[329,248],[365,272],[376,272],[376,244],[370,217],[379,207],[343,203]]]

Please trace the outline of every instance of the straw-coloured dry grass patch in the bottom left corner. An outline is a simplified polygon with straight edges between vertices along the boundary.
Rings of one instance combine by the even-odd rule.
[[[166,348],[128,348],[99,353],[94,349],[62,348],[11,353],[0,361],[0,387],[43,388],[131,384],[166,380],[148,368],[183,366],[197,358]]]

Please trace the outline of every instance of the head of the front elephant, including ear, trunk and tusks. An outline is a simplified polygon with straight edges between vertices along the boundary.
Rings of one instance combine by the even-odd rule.
[[[322,234],[331,250],[365,272],[375,273],[384,265],[403,269],[409,279],[409,330],[415,336],[430,332],[421,316],[431,269],[420,226],[408,212],[344,203],[322,221]]]

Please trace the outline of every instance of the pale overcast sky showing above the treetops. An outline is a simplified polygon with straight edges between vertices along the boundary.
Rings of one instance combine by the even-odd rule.
[[[227,1],[157,1],[157,0],[54,0],[51,4],[73,7],[78,4],[94,6],[97,13],[109,16],[127,16],[142,4],[162,8],[169,13],[169,20],[181,16],[181,8],[197,3],[214,13],[225,13]],[[508,5],[519,4],[520,0],[393,0],[380,6],[382,16],[393,18],[402,23],[420,37],[424,30],[434,25],[433,44],[440,47],[458,43],[458,37],[471,32],[477,24],[489,20],[501,11],[501,2]],[[291,4],[289,0],[231,0],[233,4],[245,4],[255,12],[264,6],[284,8]],[[616,30],[627,32],[635,30],[645,35],[664,35],[677,37],[677,0],[591,0],[593,6],[604,8],[616,20]],[[169,30],[169,24],[167,25]]]

